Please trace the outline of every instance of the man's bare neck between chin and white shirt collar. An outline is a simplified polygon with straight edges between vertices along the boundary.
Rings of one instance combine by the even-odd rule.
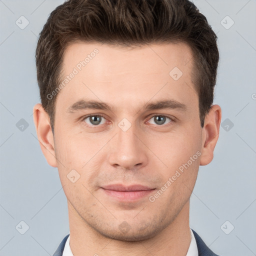
[[[175,219],[155,236],[141,241],[121,241],[105,237],[89,226],[67,201],[70,248],[74,256],[185,256],[191,236],[189,201]]]

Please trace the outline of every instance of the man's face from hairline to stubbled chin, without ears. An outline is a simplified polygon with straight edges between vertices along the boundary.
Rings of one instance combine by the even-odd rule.
[[[54,150],[69,217],[141,240],[188,209],[202,148],[190,59],[184,43],[65,50],[61,81],[74,75],[57,94]]]

